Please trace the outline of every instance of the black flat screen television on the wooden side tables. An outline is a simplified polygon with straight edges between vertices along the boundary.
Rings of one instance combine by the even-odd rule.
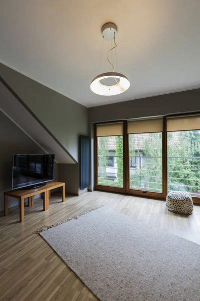
[[[14,154],[12,189],[31,189],[54,179],[54,155]]]

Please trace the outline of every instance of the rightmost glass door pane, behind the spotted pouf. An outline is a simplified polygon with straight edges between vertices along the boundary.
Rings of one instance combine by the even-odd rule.
[[[167,190],[200,197],[200,130],[167,132]]]

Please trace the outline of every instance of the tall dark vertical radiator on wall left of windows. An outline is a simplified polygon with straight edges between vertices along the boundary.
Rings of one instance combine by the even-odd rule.
[[[80,189],[89,186],[89,137],[80,136]]]

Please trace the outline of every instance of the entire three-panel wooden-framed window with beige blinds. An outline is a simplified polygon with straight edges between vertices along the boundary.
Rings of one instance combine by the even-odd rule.
[[[98,124],[95,162],[97,189],[200,204],[200,115]]]

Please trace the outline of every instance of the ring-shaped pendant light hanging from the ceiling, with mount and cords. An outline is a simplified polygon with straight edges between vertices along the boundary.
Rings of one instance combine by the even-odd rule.
[[[105,72],[96,76],[90,84],[90,89],[92,92],[98,95],[103,95],[103,96],[117,95],[125,92],[129,88],[130,82],[127,79],[127,77],[124,76],[123,74],[114,72],[114,67],[112,62],[112,50],[116,48],[116,43],[115,43],[115,37],[117,35],[116,25],[114,23],[104,24],[103,27],[101,28],[101,35],[103,40],[110,41],[110,42],[114,40],[114,47],[111,47],[111,49],[108,50],[106,55],[109,64],[112,66],[112,72]],[[103,48],[103,44],[102,44],[102,48]],[[108,53],[110,51],[111,51],[111,62],[108,59]],[[102,49],[101,49],[101,57],[102,57]],[[115,51],[115,58],[116,58],[116,51]],[[101,59],[100,59],[100,64],[101,64]],[[99,66],[99,72],[100,72],[100,66]],[[116,83],[113,85],[104,85],[102,83],[104,79],[113,79],[115,80]]]

